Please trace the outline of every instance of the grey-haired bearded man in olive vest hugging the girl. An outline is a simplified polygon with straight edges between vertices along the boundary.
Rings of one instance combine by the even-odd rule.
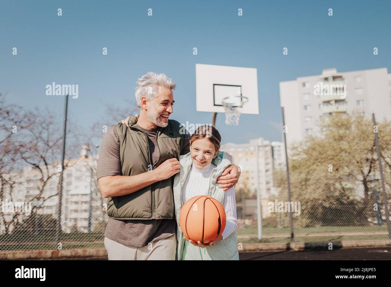
[[[108,199],[104,244],[109,260],[175,260],[173,175],[179,172],[179,155],[190,151],[190,135],[169,119],[175,87],[163,73],[139,78],[140,116],[130,116],[103,137],[97,177]],[[239,167],[230,166],[217,183],[227,190],[239,176]]]

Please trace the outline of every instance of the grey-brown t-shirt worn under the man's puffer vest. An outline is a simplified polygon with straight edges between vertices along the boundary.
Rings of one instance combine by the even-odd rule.
[[[154,164],[159,159],[159,149],[156,146],[156,131],[146,130],[136,124],[147,134],[149,150],[151,151],[151,162]],[[188,153],[190,135],[186,134],[181,155]],[[120,142],[114,128],[110,128],[103,137],[100,148],[97,178],[108,175],[121,175]],[[175,219],[125,219],[118,220],[110,218],[104,236],[127,246],[143,247],[149,242],[159,241],[175,234]]]

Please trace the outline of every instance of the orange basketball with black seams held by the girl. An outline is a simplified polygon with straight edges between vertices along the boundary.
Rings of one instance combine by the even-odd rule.
[[[183,235],[204,244],[219,237],[224,231],[225,223],[224,207],[219,201],[206,195],[190,198],[179,214],[179,226]]]

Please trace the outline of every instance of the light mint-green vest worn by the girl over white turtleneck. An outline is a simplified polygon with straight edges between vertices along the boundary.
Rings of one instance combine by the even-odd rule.
[[[179,157],[180,163],[180,172],[174,177],[174,203],[175,203],[175,212],[176,212],[176,221],[178,225],[178,230],[176,232],[178,245],[177,245],[177,260],[181,260],[183,253],[183,245],[185,244],[185,239],[183,239],[183,232],[179,226],[179,213],[184,204],[182,202],[182,188],[185,184],[188,173],[192,167],[192,159],[190,157],[190,152],[186,155],[181,155]],[[212,164],[215,165],[215,168],[212,170],[210,188],[208,196],[212,196],[218,200],[221,204],[224,203],[224,193],[222,189],[219,189],[218,184],[216,184],[217,177],[228,166],[231,165],[230,160],[227,159],[224,152],[217,153],[215,159],[212,160]],[[236,231],[232,232],[230,236],[226,239],[219,241],[217,244],[211,247],[205,248],[209,257],[212,260],[231,260],[238,257],[238,240]]]

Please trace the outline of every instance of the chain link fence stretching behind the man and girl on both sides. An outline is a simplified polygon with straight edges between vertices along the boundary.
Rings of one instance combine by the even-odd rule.
[[[237,188],[238,242],[291,242],[290,214],[294,242],[389,239],[385,203],[390,210],[391,143],[382,142],[387,137],[380,134],[384,193],[374,137],[368,135],[364,139],[356,134],[356,140],[346,140],[346,135],[339,140],[331,135],[311,137],[305,146],[293,147],[291,202],[285,168],[274,169],[274,193],[260,198],[260,219],[256,192]],[[58,172],[42,178],[39,168],[24,169],[18,182],[3,175],[0,251],[104,248],[108,216],[97,185],[96,160],[81,157],[64,171],[58,242]],[[243,173],[240,180],[249,177]]]

